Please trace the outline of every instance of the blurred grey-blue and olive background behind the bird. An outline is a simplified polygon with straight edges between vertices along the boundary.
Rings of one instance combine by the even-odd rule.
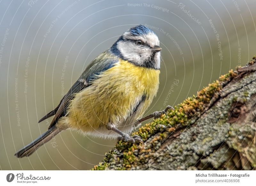
[[[177,105],[256,54],[255,1],[0,1],[0,169],[86,170],[115,145],[64,131],[29,158],[14,153],[44,133],[37,121],[127,29],[161,42],[160,88],[145,113]]]

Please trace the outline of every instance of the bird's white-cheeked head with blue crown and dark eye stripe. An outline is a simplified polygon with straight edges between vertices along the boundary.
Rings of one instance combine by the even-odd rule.
[[[139,25],[124,32],[110,50],[135,65],[160,69],[159,44],[159,39],[152,30]]]

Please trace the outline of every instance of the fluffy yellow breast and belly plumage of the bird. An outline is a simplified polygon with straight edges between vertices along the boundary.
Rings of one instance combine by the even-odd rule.
[[[118,127],[131,115],[133,120],[129,121],[134,122],[142,117],[156,96],[159,74],[159,70],[120,60],[76,94],[68,108],[68,118],[60,119],[59,123],[68,123],[69,128],[93,133],[102,126],[106,128],[109,122]],[[143,103],[138,105],[143,96]],[[136,114],[133,114],[136,107]]]

